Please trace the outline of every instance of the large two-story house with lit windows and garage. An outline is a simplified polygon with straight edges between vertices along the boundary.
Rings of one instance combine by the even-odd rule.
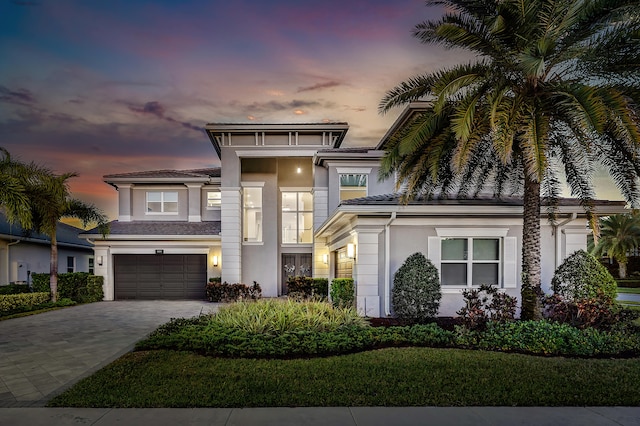
[[[378,180],[386,142],[341,148],[346,123],[209,124],[222,167],[105,176],[118,190],[119,218],[95,243],[105,298],[203,298],[207,278],[257,281],[263,295],[286,293],[289,275],[353,277],[358,310],[392,314],[393,276],[424,253],[441,274],[441,315],[462,306],[461,290],[496,284],[519,296],[521,199],[432,199],[402,204],[394,182]],[[542,226],[543,283],[586,247],[576,200],[561,200],[558,222]],[[624,202],[597,202],[599,214]]]

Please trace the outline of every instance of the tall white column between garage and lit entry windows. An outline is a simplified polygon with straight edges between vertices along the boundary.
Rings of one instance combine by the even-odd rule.
[[[242,282],[242,196],[240,188],[221,190],[222,281]]]

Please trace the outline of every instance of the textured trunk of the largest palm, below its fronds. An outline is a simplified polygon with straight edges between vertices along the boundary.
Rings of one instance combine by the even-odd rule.
[[[540,183],[525,175],[520,318],[540,319]]]

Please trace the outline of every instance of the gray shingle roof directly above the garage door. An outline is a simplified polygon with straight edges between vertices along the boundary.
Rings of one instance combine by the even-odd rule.
[[[98,228],[86,231],[85,234],[100,234]],[[118,222],[109,224],[109,235],[219,235],[220,221],[211,222],[162,222],[137,221]],[[109,238],[107,235],[107,239]]]

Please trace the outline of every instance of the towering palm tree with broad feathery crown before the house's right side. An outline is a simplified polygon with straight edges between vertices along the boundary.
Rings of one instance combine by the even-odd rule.
[[[477,59],[413,77],[382,99],[383,113],[418,100],[429,105],[389,142],[381,178],[397,173],[405,199],[521,191],[521,317],[536,318],[541,199],[553,206],[561,176],[594,229],[596,165],[633,206],[640,199],[638,0],[426,3],[447,12],[414,35]]]

